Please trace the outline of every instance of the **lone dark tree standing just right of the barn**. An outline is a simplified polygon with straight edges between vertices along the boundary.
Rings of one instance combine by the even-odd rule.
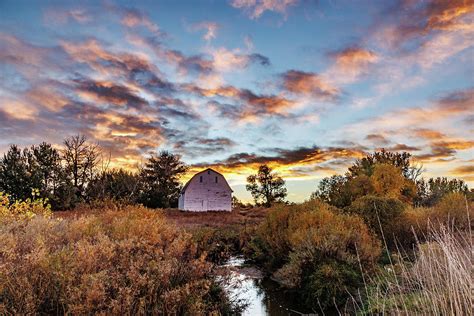
[[[275,202],[284,202],[287,193],[285,181],[267,165],[261,165],[257,174],[247,177],[246,188],[252,194],[255,204],[266,207]]]

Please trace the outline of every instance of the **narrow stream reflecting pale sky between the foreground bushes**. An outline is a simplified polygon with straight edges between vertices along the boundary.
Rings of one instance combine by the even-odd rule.
[[[242,257],[231,257],[224,265],[230,270],[230,282],[226,291],[230,298],[246,304],[242,315],[308,315],[297,299],[265,277],[262,271],[247,265]],[[316,315],[316,314],[313,314]]]

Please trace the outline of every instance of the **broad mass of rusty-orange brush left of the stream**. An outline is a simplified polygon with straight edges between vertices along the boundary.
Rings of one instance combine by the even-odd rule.
[[[0,225],[0,314],[228,312],[211,264],[159,212]]]

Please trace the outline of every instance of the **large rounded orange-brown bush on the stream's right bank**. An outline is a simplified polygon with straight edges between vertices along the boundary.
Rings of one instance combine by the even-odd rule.
[[[361,267],[371,271],[380,254],[379,241],[360,218],[318,200],[273,209],[251,247],[313,308],[345,302],[362,284]]]

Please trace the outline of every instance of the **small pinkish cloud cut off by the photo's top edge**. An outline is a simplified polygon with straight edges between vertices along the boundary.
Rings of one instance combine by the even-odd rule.
[[[231,5],[243,9],[251,19],[258,19],[265,11],[277,12],[286,18],[288,8],[297,2],[298,0],[232,0]]]

